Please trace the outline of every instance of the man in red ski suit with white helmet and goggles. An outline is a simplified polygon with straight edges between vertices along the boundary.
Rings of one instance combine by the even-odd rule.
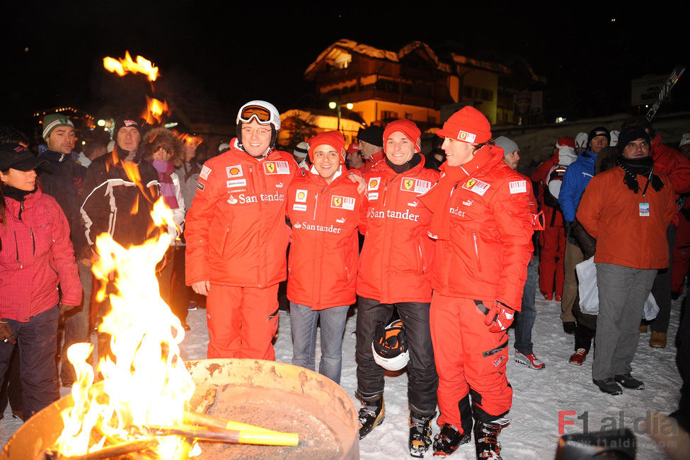
[[[276,108],[253,100],[237,137],[209,159],[185,219],[187,284],[207,295],[208,357],[275,359],[278,283],[286,278],[285,192],[299,174],[275,150]]]

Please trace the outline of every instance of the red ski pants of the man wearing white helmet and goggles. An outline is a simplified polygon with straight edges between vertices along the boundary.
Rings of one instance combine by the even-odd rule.
[[[258,289],[211,284],[206,322],[209,358],[275,360],[278,285]]]

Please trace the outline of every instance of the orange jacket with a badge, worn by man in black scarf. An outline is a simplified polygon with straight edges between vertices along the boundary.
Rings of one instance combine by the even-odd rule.
[[[631,268],[669,266],[666,229],[676,204],[668,176],[656,167],[654,172],[663,180],[664,188],[657,192],[650,184],[644,196],[647,178],[638,175],[640,190],[633,193],[623,183],[625,173],[620,166],[590,180],[577,207],[577,220],[597,239],[594,262]]]

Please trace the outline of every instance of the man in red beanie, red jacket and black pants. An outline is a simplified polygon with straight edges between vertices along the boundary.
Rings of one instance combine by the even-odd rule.
[[[364,175],[367,183],[367,233],[357,275],[357,398],[360,438],[384,418],[384,372],[372,354],[376,324],[388,324],[396,306],[405,326],[410,361],[410,454],[430,447],[429,424],[436,415],[437,375],[429,329],[433,242],[427,236],[431,212],[418,200],[438,180],[424,167],[420,130],[396,120],[384,130],[386,156]]]

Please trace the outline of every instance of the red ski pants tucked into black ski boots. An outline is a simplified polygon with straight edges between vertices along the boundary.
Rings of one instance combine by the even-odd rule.
[[[450,423],[461,429],[461,420],[471,416],[459,408],[468,393],[480,420],[489,422],[510,410],[512,388],[505,376],[508,335],[489,332],[484,318],[473,300],[434,292],[430,323],[439,374],[439,426]]]

